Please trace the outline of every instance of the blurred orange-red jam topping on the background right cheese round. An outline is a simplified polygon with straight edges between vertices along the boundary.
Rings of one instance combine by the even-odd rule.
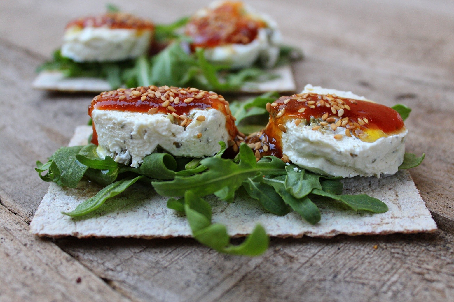
[[[247,14],[242,2],[226,1],[204,15],[194,16],[186,26],[192,47],[216,47],[226,44],[249,44],[265,22]]]

